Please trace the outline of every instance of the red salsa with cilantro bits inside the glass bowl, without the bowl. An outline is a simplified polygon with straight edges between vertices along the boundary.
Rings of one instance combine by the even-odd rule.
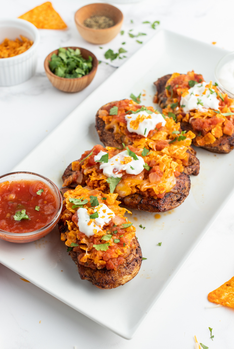
[[[28,233],[45,227],[55,217],[58,202],[42,181],[0,183],[0,229]]]

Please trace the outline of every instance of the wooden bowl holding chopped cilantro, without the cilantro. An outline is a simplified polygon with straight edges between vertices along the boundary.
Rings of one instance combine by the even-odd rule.
[[[63,47],[63,48],[68,49],[68,47]],[[81,90],[84,90],[84,88],[86,88],[93,80],[94,75],[96,74],[96,71],[97,71],[98,60],[92,52],[82,49],[81,47],[69,46],[69,48],[73,50],[79,49],[82,57],[84,57],[85,59],[88,59],[88,56],[91,56],[93,59],[92,70],[87,75],[84,75],[82,77],[75,77],[73,79],[55,75],[54,73],[51,72],[49,67],[49,61],[51,59],[52,54],[53,53],[58,54],[58,50],[55,50],[50,54],[48,54],[47,58],[45,58],[45,61],[44,61],[45,73],[48,79],[50,80],[51,84],[54,87],[56,87],[58,90],[61,90],[64,92],[79,92]]]

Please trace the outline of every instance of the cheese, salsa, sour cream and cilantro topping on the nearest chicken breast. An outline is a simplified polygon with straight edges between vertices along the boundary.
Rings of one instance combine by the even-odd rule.
[[[130,254],[136,229],[123,216],[128,210],[119,207],[117,196],[80,185],[64,193],[61,221],[68,230],[61,240],[77,252],[79,264],[117,270]]]

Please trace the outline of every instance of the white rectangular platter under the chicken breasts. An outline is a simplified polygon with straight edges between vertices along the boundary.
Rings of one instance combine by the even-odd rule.
[[[13,170],[37,172],[61,186],[66,166],[99,143],[94,122],[100,106],[129,98],[131,93],[144,93],[143,90],[146,96],[142,104],[153,105],[153,82],[173,72],[194,69],[206,81],[214,80],[215,65],[225,53],[172,32],[158,31]],[[159,219],[152,213],[133,211],[131,219],[147,260],[142,262],[139,274],[124,286],[99,290],[90,282],[81,281],[57,229],[30,244],[0,240],[0,262],[102,326],[130,339],[233,192],[234,152],[219,155],[197,149],[197,156],[200,174],[191,177],[190,194],[181,206],[160,214]],[[140,224],[146,229],[139,228]],[[162,242],[161,247],[158,242]]]

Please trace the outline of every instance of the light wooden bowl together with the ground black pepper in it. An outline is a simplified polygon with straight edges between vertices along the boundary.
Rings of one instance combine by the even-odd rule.
[[[75,22],[80,35],[86,41],[101,45],[114,39],[120,32],[123,14],[117,7],[108,3],[91,3],[76,12]]]

